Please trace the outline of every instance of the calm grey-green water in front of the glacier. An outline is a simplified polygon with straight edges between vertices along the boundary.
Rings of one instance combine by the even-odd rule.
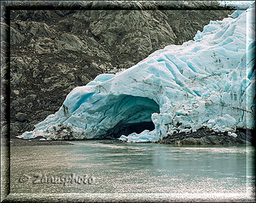
[[[230,196],[255,187],[251,146],[72,143],[11,147],[11,193]]]

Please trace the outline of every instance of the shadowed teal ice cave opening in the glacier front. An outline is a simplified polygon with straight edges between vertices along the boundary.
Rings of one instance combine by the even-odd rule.
[[[114,100],[112,100],[114,101]],[[144,130],[152,131],[155,125],[151,120],[152,113],[160,113],[159,105],[146,97],[123,95],[115,101],[114,119],[118,123],[110,127],[101,139],[117,139],[121,135],[130,135],[133,132],[140,134]]]

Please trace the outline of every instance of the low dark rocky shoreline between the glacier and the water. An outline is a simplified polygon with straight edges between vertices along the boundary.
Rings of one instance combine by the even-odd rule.
[[[228,132],[215,132],[211,129],[202,127],[195,132],[179,132],[168,135],[158,142],[139,142],[139,143],[158,143],[158,144],[251,144],[255,146],[253,134],[255,130],[237,129],[237,137],[229,136]],[[85,139],[85,140],[46,140],[39,136],[34,139],[11,138],[10,146],[49,146],[49,145],[73,145],[72,141],[98,140],[99,143],[114,144],[126,143],[119,139]],[[2,145],[3,143],[1,143]],[[4,144],[7,145],[7,144]]]

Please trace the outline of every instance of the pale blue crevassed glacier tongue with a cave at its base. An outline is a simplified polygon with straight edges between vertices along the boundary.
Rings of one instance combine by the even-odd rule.
[[[255,18],[254,10],[210,21],[194,40],[168,45],[118,74],[97,76],[73,89],[35,130],[18,137],[122,135],[127,142],[146,142],[203,126],[229,134],[253,129],[255,21],[249,19]]]

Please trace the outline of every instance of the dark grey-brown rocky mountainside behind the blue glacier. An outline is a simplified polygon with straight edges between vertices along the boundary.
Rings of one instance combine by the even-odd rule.
[[[102,2],[82,3],[91,8],[104,8]],[[115,3],[119,2],[112,2]],[[183,3],[178,8],[186,6]],[[202,7],[207,4],[203,2]],[[145,5],[146,1],[142,6]],[[190,3],[190,6],[195,5]],[[210,20],[221,20],[231,13],[224,10],[11,11],[11,136],[32,130],[36,123],[55,113],[76,86],[86,85],[98,74],[130,68],[166,45],[191,40]],[[1,39],[2,35],[6,36],[6,28],[1,23]],[[4,59],[1,57],[1,62]],[[4,84],[6,72],[2,69]],[[16,118],[19,113],[26,113],[26,119]],[[1,122],[1,129],[4,126]]]

